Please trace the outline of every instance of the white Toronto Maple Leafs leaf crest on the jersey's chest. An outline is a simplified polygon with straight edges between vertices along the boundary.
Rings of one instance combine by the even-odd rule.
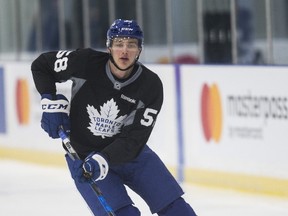
[[[123,121],[127,115],[118,117],[119,111],[113,98],[104,103],[103,106],[100,106],[100,112],[88,104],[87,112],[90,118],[88,129],[93,135],[101,136],[103,139],[120,133]]]

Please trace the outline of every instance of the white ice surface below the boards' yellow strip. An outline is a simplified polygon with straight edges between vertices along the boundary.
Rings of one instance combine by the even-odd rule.
[[[68,170],[0,160],[1,216],[89,216]],[[233,190],[183,185],[199,216],[288,216],[288,199]],[[152,215],[131,191],[143,216]]]

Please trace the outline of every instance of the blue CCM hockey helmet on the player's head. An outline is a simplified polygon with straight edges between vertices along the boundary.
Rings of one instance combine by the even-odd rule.
[[[141,48],[144,43],[143,31],[135,20],[115,20],[107,31],[106,46],[111,47],[111,42],[116,37],[136,38]]]

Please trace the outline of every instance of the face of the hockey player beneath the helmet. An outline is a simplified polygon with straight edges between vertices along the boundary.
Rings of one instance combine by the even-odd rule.
[[[111,55],[121,69],[134,64],[140,51],[138,40],[135,38],[115,38],[110,47]]]

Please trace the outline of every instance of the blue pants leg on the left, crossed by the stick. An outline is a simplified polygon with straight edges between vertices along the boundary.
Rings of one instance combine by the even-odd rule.
[[[68,157],[66,155],[66,157]],[[71,169],[72,163],[67,160],[69,170]],[[71,170],[70,170],[71,171]],[[95,192],[91,188],[89,183],[78,183],[76,181],[75,185],[90,207],[94,215],[107,215],[101,203],[99,202]],[[112,207],[114,211],[133,204],[132,200],[127,194],[127,191],[123,185],[121,179],[112,171],[108,173],[106,178],[101,181],[97,181],[97,186],[101,189],[104,198],[106,199],[108,205]]]

